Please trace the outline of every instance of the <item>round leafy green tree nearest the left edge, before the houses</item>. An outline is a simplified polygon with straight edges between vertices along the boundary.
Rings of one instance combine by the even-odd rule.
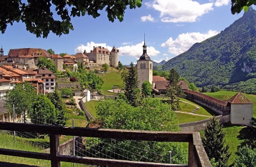
[[[30,83],[26,81],[18,83],[5,96],[8,112],[13,114],[14,105],[15,114],[21,115],[24,123],[26,123],[26,116],[30,114],[36,96],[36,91]]]

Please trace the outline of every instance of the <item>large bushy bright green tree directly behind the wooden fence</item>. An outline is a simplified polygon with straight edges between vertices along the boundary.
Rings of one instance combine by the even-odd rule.
[[[175,112],[171,111],[170,105],[150,97],[143,99],[142,105],[139,107],[133,107],[123,99],[102,100],[97,106],[97,115],[96,122],[101,125],[101,128],[179,131],[178,118]],[[102,144],[104,145],[106,142],[109,142],[109,140],[103,139]],[[172,150],[175,152],[172,157],[173,163],[187,163],[187,156],[185,155],[188,153],[182,144],[127,140],[110,142],[112,144],[104,145],[106,150],[112,150],[115,153],[119,153],[118,151],[120,150],[132,150],[136,154],[136,156],[129,154],[129,158],[132,160],[151,162],[152,159],[155,159],[157,162],[168,163],[168,151]],[[147,149],[150,151],[146,151]],[[109,153],[107,154],[109,155]],[[115,155],[112,156],[114,157]],[[145,157],[148,157],[148,159]],[[118,157],[115,158],[118,159]]]

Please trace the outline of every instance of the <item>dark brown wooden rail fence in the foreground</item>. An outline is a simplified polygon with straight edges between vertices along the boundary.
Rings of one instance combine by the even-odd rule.
[[[199,132],[156,132],[142,130],[91,129],[82,127],[60,127],[36,124],[0,122],[0,130],[46,133],[50,136],[50,154],[0,148],[0,154],[33,159],[51,160],[51,166],[60,162],[86,163],[104,166],[211,166],[202,146]],[[188,165],[166,163],[133,162],[128,160],[100,159],[93,157],[63,156],[59,154],[59,136],[84,136],[93,138],[127,139],[136,141],[188,142]]]

